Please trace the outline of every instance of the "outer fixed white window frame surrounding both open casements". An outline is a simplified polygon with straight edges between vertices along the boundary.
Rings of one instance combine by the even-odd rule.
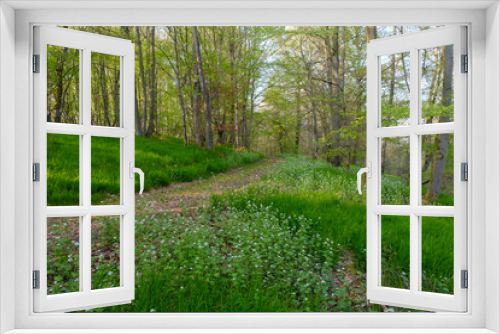
[[[405,1],[406,2],[406,1]],[[17,4],[16,4],[17,3]],[[393,9],[394,2],[371,1],[354,4],[338,1],[331,4],[314,2],[274,3],[274,7],[264,8],[256,4],[244,8],[245,4],[232,9],[220,9],[220,4],[212,3],[208,8],[200,3],[193,6],[173,3],[171,8],[158,9],[158,3],[145,1],[143,5],[133,2],[132,7],[150,6],[150,9],[123,9],[129,2],[16,2],[13,6],[39,6],[45,10],[26,9],[14,11],[8,4],[0,4],[0,131],[5,121],[15,123],[15,147],[7,144],[9,131],[0,132],[0,316],[4,320],[1,330],[15,329],[13,333],[38,333],[42,329],[61,333],[88,329],[88,333],[115,332],[140,333],[146,329],[164,329],[163,332],[180,332],[180,328],[203,329],[211,332],[362,332],[362,333],[403,333],[411,328],[422,333],[492,333],[500,331],[500,11],[498,3],[463,2],[462,9],[449,9],[450,3],[436,1],[418,5],[412,10]],[[149,3],[149,5],[148,5]],[[166,3],[166,2],[165,2]],[[440,5],[436,5],[440,4]],[[464,5],[465,4],[465,5]],[[87,9],[74,9],[78,6]],[[425,6],[432,6],[426,8]],[[490,5],[486,10],[484,7]],[[31,6],[31,7],[30,7]],[[70,6],[61,9],[59,6]],[[71,6],[74,6],[71,8]],[[95,8],[108,6],[109,10]],[[130,6],[130,5],[128,5]],[[175,8],[177,6],[177,8]],[[207,6],[207,5],[205,5]],[[211,7],[210,7],[211,6]],[[249,6],[248,4],[246,6]],[[281,9],[279,7],[282,6]],[[287,6],[292,8],[286,8]],[[358,9],[342,9],[356,7]],[[397,6],[401,7],[401,2]],[[419,7],[420,9],[416,9]],[[439,8],[448,9],[436,9]],[[464,9],[470,6],[472,9]],[[481,9],[474,9],[483,6]],[[183,9],[179,9],[183,8]],[[295,8],[293,8],[295,7]],[[326,8],[325,8],[326,7]],[[25,7],[26,8],[26,7]],[[81,7],[79,7],[81,8]],[[92,9],[93,8],[93,9]],[[217,9],[219,8],[219,9]],[[376,9],[373,9],[376,8]],[[57,9],[57,10],[56,10]],[[13,20],[15,14],[15,23]],[[469,30],[469,50],[471,59],[468,76],[469,119],[468,146],[470,154],[470,183],[468,190],[468,219],[471,242],[468,245],[470,285],[468,289],[469,307],[467,313],[435,314],[34,314],[33,292],[31,290],[32,259],[32,183],[30,181],[32,143],[32,95],[31,46],[32,27],[37,24],[60,25],[434,25],[465,24]],[[15,31],[15,43],[12,38]],[[15,50],[14,50],[15,46]],[[15,52],[15,60],[13,54]],[[12,66],[15,65],[15,73]],[[488,66],[488,71],[486,71]],[[6,76],[5,73],[8,75]],[[15,79],[15,99],[6,94],[13,93]],[[15,107],[15,116],[7,114],[6,108]],[[12,109],[11,109],[12,110]],[[486,119],[488,117],[488,122]],[[12,133],[12,131],[10,132]],[[11,147],[11,148],[9,148]],[[485,149],[489,154],[485,154]],[[15,160],[14,163],[9,163]],[[488,164],[486,164],[488,163]],[[11,192],[3,187],[9,182],[15,168],[15,212],[8,210]],[[486,172],[492,174],[486,180]],[[488,196],[486,196],[488,195]],[[487,206],[485,205],[485,202]],[[14,216],[15,215],[15,216]],[[15,218],[7,221],[9,218]],[[473,226],[473,227],[472,227]],[[15,238],[15,245],[10,239]],[[488,250],[488,251],[486,251]],[[12,289],[12,287],[15,287]],[[486,293],[486,289],[488,293]],[[12,291],[14,290],[14,291]],[[12,305],[15,305],[12,308]],[[13,316],[13,318],[12,318]],[[142,328],[131,330],[133,328]],[[247,330],[244,330],[247,328]],[[294,330],[301,328],[300,330]],[[121,330],[120,330],[121,329]],[[170,330],[169,330],[170,329]],[[217,330],[215,330],[217,329]],[[344,329],[344,330],[343,330]],[[357,330],[356,330],[357,329]],[[431,330],[432,329],[432,330]],[[109,332],[109,331],[108,331]],[[183,331],[188,332],[188,331]],[[47,333],[47,331],[45,331]]]

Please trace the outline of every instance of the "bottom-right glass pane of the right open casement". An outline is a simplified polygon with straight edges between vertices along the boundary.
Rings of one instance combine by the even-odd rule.
[[[422,217],[422,291],[453,294],[453,218]]]

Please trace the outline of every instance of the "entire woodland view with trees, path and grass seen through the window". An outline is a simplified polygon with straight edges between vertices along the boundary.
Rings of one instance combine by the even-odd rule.
[[[136,165],[151,191],[138,197],[137,244],[150,250],[136,252],[137,300],[96,311],[388,310],[364,299],[366,199],[355,191],[355,173],[366,160],[366,46],[436,27],[65,28],[136,46]],[[80,53],[59,46],[47,51],[47,122],[78,124]],[[409,122],[409,57],[380,57],[381,126]],[[93,53],[91,63],[92,125],[118,127],[120,58]],[[422,50],[420,63],[422,123],[453,121],[453,47]],[[422,136],[424,205],[453,205],[453,140],[453,134]],[[94,198],[117,204],[115,144],[92,143],[93,204]],[[408,137],[381,140],[382,204],[409,204],[409,145]],[[77,138],[49,135],[49,205],[78,203],[77,153]],[[185,193],[168,188],[179,182]],[[387,218],[392,227],[382,231],[386,286],[408,288],[406,218]],[[453,219],[424,220],[423,289],[453,293]],[[71,223],[64,224],[54,219],[49,236],[74,244]],[[96,228],[95,244],[107,249],[102,240],[113,243],[119,232],[108,221],[99,224],[104,230]],[[250,241],[259,238],[262,245],[252,248]],[[287,248],[293,243],[297,248]],[[307,263],[307,256],[301,262],[306,251],[324,266]],[[75,282],[61,284],[74,277],[66,260],[75,253],[74,247],[49,247],[51,293],[77,289]],[[100,267],[100,282],[111,284],[99,288],[113,286],[112,277],[116,282],[115,253],[106,263],[93,250],[95,273]],[[288,260],[274,263],[277,258]],[[278,298],[282,291],[290,295]]]

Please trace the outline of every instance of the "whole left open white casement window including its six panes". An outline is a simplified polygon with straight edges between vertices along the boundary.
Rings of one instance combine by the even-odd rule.
[[[130,303],[134,45],[44,26],[34,41],[34,311]],[[105,159],[114,168],[98,173]],[[103,174],[116,189],[109,198],[94,194]],[[64,193],[54,193],[56,182],[66,182]]]

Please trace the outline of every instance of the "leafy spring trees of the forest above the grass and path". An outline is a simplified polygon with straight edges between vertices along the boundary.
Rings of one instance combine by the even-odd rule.
[[[266,155],[301,153],[346,169],[365,159],[366,44],[430,28],[72,27],[135,43],[138,136],[177,137],[209,150],[229,144]],[[426,123],[453,117],[452,87],[446,87],[452,73],[444,66],[448,49],[423,53]],[[49,52],[47,121],[77,122],[78,53],[56,46]],[[383,126],[403,124],[409,115],[409,54],[388,55],[381,62]],[[93,53],[95,125],[119,123],[119,67],[118,57]],[[425,138],[426,182],[440,180],[430,187],[429,200],[437,198],[440,187],[452,187],[446,184],[449,168],[438,168],[431,177],[433,166],[442,165],[434,159],[446,157],[433,154],[438,141],[440,152],[453,145],[452,138]],[[388,157],[404,145],[384,141],[383,170],[407,177],[408,166]]]

